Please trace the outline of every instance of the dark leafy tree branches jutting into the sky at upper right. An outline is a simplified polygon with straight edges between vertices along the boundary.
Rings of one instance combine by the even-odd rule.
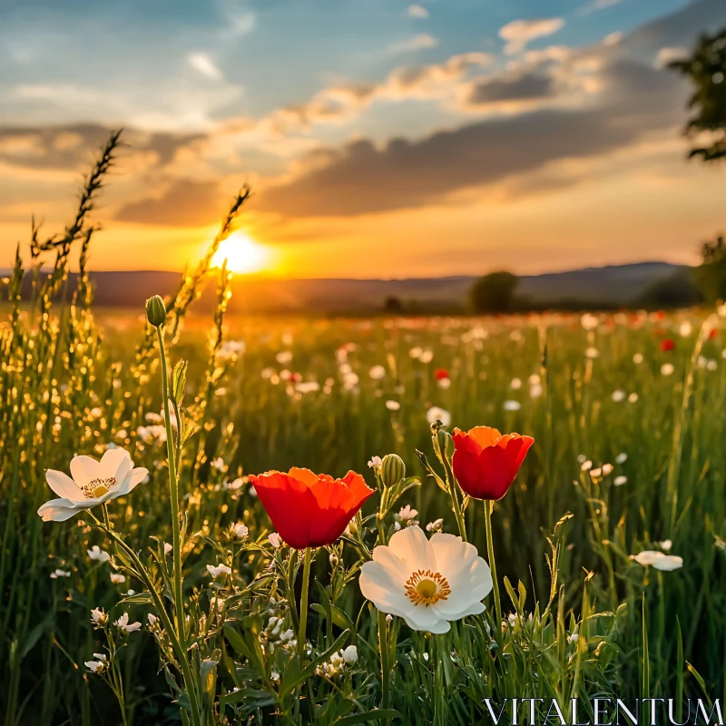
[[[701,35],[691,57],[669,65],[688,77],[695,89],[688,103],[695,115],[685,132],[711,134],[709,145],[694,147],[690,157],[701,157],[703,162],[726,157],[726,28]]]

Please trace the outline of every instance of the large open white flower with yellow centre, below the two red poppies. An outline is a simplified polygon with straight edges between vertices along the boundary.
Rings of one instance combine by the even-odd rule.
[[[413,630],[447,633],[448,621],[484,612],[492,575],[473,544],[440,533],[427,540],[410,526],[373,550],[359,584],[378,610],[402,617]]]

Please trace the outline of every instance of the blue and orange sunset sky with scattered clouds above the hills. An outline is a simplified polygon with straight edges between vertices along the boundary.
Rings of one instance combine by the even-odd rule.
[[[119,127],[94,270],[193,265],[242,184],[240,270],[695,263],[726,172],[687,161],[664,66],[724,25],[723,0],[3,0],[0,269]]]

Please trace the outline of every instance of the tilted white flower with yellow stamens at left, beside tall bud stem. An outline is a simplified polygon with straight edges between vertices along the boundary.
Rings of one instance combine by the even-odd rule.
[[[82,509],[101,505],[117,496],[125,496],[149,473],[133,468],[131,456],[123,448],[109,449],[101,461],[92,456],[74,456],[71,475],[48,469],[45,481],[59,499],[51,499],[38,509],[44,522],[64,522]]]

